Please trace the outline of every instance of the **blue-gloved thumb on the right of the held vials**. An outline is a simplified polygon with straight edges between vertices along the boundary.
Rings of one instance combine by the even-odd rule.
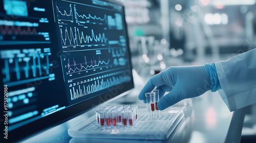
[[[180,90],[181,89],[174,87],[172,91],[170,91],[168,94],[166,94],[166,96],[164,96],[163,98],[161,98],[159,100],[159,102],[157,103],[157,108],[159,110],[164,110],[164,109],[168,108],[169,106],[172,106],[172,105],[180,102],[182,100]]]

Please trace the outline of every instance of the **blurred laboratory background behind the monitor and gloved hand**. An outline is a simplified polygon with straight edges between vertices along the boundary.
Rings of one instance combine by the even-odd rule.
[[[120,2],[125,6],[136,88],[169,66],[227,60],[256,47],[255,0]],[[126,102],[131,99],[137,100],[127,98]],[[191,132],[183,141],[224,142],[233,112],[219,93],[208,91],[191,102]],[[255,141],[256,106],[243,113],[241,142]]]

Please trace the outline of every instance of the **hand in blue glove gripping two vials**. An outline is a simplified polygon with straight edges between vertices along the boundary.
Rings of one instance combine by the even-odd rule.
[[[157,104],[159,110],[172,106],[187,98],[198,97],[204,92],[212,89],[221,89],[215,64],[201,66],[179,66],[169,67],[160,74],[152,77],[139,94],[139,100],[145,100],[145,93],[151,92],[155,86],[159,89],[161,98]]]

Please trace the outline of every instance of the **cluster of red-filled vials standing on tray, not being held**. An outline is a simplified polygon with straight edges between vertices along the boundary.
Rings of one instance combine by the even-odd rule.
[[[97,108],[96,121],[101,127],[127,127],[134,126],[138,119],[138,106],[118,105]]]

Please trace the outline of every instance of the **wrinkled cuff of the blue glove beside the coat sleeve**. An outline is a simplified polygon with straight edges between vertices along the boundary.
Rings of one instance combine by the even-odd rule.
[[[222,89],[215,63],[205,64],[204,66],[210,75],[211,92],[216,92],[217,90]]]

